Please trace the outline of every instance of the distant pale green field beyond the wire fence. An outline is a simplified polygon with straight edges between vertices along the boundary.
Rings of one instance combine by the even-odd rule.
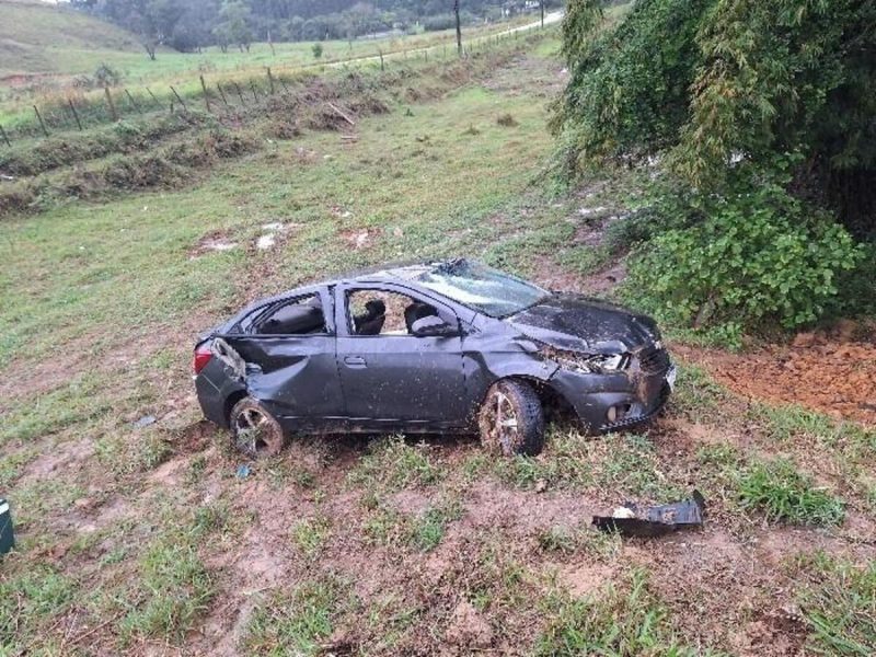
[[[12,129],[22,122],[34,120],[32,105],[51,112],[54,105],[64,105],[72,97],[89,102],[102,97],[103,91],[83,91],[73,84],[76,77],[91,77],[102,65],[120,76],[122,88],[145,93],[150,87],[158,95],[171,100],[169,85],[182,94],[199,92],[199,76],[211,83],[217,81],[247,81],[264,77],[270,67],[277,74],[292,74],[301,69],[320,70],[336,62],[355,62],[362,58],[401,60],[448,58],[456,48],[452,31],[418,33],[380,39],[321,42],[322,56],[313,55],[313,42],[278,43],[273,48],[267,43],[252,44],[249,51],[218,47],[200,53],[178,53],[159,48],[150,60],[135,35],[108,23],[69,9],[30,0],[0,0],[0,125]],[[486,26],[466,26],[465,47],[476,47],[493,35],[516,26],[531,24],[533,15]],[[355,66],[355,64],[351,64]],[[71,118],[70,118],[71,119]]]

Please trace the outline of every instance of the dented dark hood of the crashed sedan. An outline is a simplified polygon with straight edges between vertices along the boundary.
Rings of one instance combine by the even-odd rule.
[[[632,351],[660,338],[647,315],[580,295],[552,295],[507,322],[532,339],[591,354]]]

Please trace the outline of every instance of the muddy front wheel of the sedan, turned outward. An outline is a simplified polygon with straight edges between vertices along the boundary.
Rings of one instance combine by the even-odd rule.
[[[486,393],[479,415],[481,442],[506,457],[535,456],[544,445],[544,413],[529,383],[503,380]]]

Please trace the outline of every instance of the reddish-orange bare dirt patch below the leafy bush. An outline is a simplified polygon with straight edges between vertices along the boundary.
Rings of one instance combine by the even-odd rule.
[[[773,403],[797,403],[834,417],[876,425],[876,343],[800,334],[791,345],[753,354],[702,356],[735,392]]]

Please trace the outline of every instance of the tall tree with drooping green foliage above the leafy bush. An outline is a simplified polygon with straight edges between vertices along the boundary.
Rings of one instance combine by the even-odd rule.
[[[593,4],[570,3],[564,23],[570,80],[552,126],[565,173],[669,151],[707,193],[738,182],[734,162],[770,171],[793,153],[808,195],[876,231],[874,3],[638,0],[596,37]]]

